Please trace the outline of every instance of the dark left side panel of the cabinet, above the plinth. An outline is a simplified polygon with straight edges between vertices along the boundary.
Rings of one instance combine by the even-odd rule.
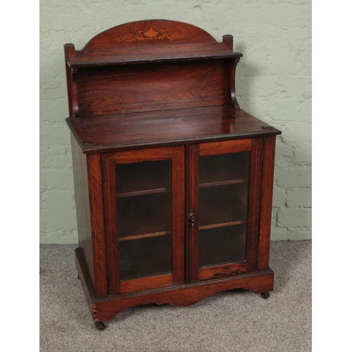
[[[87,156],[71,133],[71,148],[73,158],[73,179],[75,184],[75,202],[77,215],[78,242],[82,249],[84,265],[89,275],[89,281],[94,287],[94,260],[92,246],[92,227],[89,210],[89,189],[87,175]]]

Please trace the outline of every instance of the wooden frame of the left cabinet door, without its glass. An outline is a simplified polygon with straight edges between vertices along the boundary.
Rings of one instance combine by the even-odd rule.
[[[115,165],[142,161],[172,161],[172,273],[120,281]],[[101,155],[106,234],[108,294],[125,294],[184,282],[184,146],[169,146]]]

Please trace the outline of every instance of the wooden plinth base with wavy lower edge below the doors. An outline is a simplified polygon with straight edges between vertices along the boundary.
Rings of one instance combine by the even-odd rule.
[[[233,277],[222,277],[220,279],[208,279],[189,284],[177,284],[158,289],[149,289],[137,293],[120,294],[95,298],[92,285],[89,282],[87,270],[81,250],[75,250],[76,265],[84,294],[87,298],[89,309],[94,322],[112,320],[115,316],[129,307],[143,304],[169,303],[172,306],[190,306],[201,301],[207,296],[212,296],[220,291],[230,289],[249,289],[256,294],[272,291],[274,288],[274,272],[270,268],[260,272],[251,272]]]

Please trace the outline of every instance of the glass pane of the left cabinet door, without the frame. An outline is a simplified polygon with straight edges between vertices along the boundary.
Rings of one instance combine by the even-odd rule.
[[[171,161],[116,165],[120,279],[172,272]]]

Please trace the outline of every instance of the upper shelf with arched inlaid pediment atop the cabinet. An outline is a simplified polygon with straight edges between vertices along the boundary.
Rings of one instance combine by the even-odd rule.
[[[233,52],[232,35],[217,42],[199,27],[172,20],[125,23],[97,34],[82,50],[65,44],[70,68],[160,63],[166,61],[240,58]]]

